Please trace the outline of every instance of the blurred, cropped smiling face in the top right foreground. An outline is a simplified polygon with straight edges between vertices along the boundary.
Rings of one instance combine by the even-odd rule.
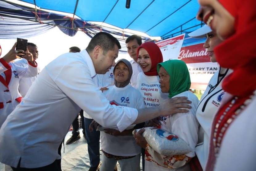
[[[235,18],[217,0],[198,0],[200,9],[196,18],[207,24],[221,40],[234,34]]]

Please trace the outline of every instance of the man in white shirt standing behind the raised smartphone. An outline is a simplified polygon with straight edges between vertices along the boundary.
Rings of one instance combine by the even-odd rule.
[[[27,49],[33,55],[33,59],[36,60],[39,56],[37,46],[34,43],[28,42]],[[28,68],[27,60],[24,58],[14,62],[14,64]],[[40,69],[38,67],[38,74],[39,73],[40,73]],[[31,78],[19,78],[19,93],[21,94],[22,97],[25,97],[28,89],[30,88],[32,83],[35,81],[35,78],[37,78],[37,76],[31,77]]]

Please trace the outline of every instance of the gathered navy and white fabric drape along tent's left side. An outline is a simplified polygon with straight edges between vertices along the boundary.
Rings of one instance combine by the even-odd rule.
[[[46,33],[56,26],[69,36],[74,36],[77,31],[83,31],[92,38],[100,31],[108,32],[119,40],[122,46],[121,53],[127,53],[125,39],[132,35],[127,32],[123,33],[123,30],[95,25],[79,18],[0,1],[1,39],[29,38]],[[142,37],[142,39],[145,41],[146,38]]]

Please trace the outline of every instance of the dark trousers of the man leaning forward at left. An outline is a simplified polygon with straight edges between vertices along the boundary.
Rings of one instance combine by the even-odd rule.
[[[58,154],[61,156],[62,143],[59,146]],[[61,171],[61,159],[55,160],[52,164],[38,168],[20,167],[20,160],[17,168],[11,167],[13,171]]]

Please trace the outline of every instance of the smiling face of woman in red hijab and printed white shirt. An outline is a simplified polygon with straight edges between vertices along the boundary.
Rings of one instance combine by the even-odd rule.
[[[147,50],[144,48],[140,48],[138,52],[138,64],[141,66],[142,71],[148,72],[151,69],[152,62]]]

